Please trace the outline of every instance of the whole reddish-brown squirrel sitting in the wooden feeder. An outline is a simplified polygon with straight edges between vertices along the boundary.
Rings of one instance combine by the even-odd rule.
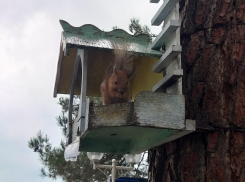
[[[114,62],[108,66],[107,75],[100,86],[103,105],[130,101],[129,78],[132,77],[134,57],[127,51],[126,43],[112,43]]]

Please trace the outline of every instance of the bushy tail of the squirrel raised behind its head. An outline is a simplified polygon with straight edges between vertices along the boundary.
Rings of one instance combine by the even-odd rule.
[[[113,52],[115,57],[114,62],[109,66],[108,74],[112,74],[113,68],[116,68],[118,70],[125,70],[128,78],[130,78],[135,72],[135,56],[127,51],[130,44],[127,42],[112,42],[111,44],[114,49]]]

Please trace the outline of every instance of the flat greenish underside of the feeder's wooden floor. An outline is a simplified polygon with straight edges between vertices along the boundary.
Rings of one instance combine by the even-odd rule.
[[[194,132],[195,128],[193,120],[186,120],[182,130],[149,126],[95,128],[86,131],[81,137],[80,150],[103,153],[140,153]]]

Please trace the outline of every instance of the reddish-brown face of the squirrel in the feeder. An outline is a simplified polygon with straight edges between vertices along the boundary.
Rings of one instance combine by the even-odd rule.
[[[119,95],[123,97],[124,93],[128,89],[128,78],[125,70],[115,69],[112,74],[111,84],[113,85],[113,90],[117,91]]]

